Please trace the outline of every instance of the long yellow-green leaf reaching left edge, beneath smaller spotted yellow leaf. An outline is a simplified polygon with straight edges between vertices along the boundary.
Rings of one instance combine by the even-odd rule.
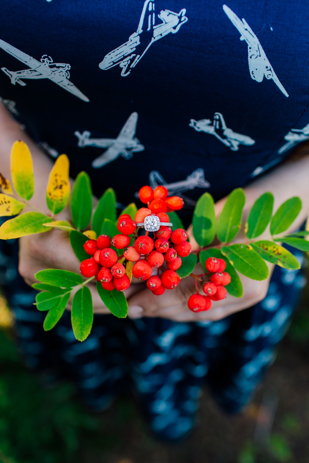
[[[38,212],[25,212],[13,219],[6,220],[0,226],[0,239],[20,238],[21,236],[48,232],[51,228],[43,225],[46,222],[52,222],[52,219]]]

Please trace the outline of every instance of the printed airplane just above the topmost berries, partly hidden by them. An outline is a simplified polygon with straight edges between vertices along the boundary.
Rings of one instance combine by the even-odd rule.
[[[167,183],[158,170],[151,170],[149,174],[149,185],[152,189],[163,185],[169,191],[169,196],[181,196],[186,206],[194,207],[196,204],[195,200],[185,196],[183,192],[193,190],[194,188],[209,188],[210,183],[205,180],[204,169],[195,169],[192,174],[188,175],[186,180],[175,181],[174,183]],[[134,194],[136,198],[139,197],[139,192]]]

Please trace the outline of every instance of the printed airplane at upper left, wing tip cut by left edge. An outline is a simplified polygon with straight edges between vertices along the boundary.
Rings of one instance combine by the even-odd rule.
[[[26,84],[21,79],[49,79],[81,100],[89,101],[87,96],[85,96],[77,87],[75,87],[74,84],[72,84],[72,82],[69,81],[70,64],[53,63],[51,57],[47,55],[43,55],[41,60],[37,61],[32,58],[32,56],[29,56],[23,51],[18,50],[18,48],[7,44],[3,40],[0,40],[0,47],[10,55],[14,56],[14,58],[17,58],[26,66],[31,68],[24,69],[22,71],[9,71],[6,68],[1,68],[1,70],[9,76],[13,85],[18,83],[24,87]]]

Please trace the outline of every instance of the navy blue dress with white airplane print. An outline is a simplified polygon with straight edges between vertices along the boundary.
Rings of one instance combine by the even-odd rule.
[[[145,184],[219,200],[309,139],[309,2],[3,0],[0,97],[45,152],[67,153],[121,209]],[[50,333],[1,243],[1,278],[33,368],[70,372],[107,407],[131,382],[151,428],[189,431],[206,380],[227,411],[250,399],[287,329],[303,277],[276,268],[261,303],[218,322],[95,316],[78,343],[65,313]],[[300,253],[297,254],[302,259]]]

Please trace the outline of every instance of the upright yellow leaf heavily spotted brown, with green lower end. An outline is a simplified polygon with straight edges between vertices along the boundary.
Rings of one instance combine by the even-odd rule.
[[[46,190],[46,202],[53,214],[58,214],[67,205],[70,194],[69,158],[60,155],[50,171]]]

